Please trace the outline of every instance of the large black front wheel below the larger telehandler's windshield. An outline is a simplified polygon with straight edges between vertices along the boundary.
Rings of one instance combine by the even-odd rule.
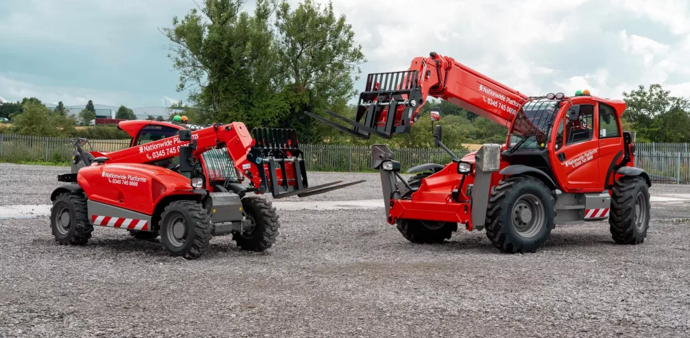
[[[509,177],[491,189],[486,237],[503,252],[536,252],[555,227],[555,199],[534,177]]]

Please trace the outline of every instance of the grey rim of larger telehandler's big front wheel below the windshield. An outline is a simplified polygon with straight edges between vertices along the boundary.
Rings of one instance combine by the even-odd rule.
[[[534,237],[544,228],[546,212],[541,199],[535,195],[523,195],[515,202],[511,212],[513,228],[518,235]]]

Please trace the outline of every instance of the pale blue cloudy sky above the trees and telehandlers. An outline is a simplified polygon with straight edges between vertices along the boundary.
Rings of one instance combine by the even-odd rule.
[[[650,83],[690,96],[689,3],[333,0],[363,47],[363,74],[404,70],[435,51],[527,95],[589,89],[611,98]],[[130,107],[184,100],[159,28],[194,6],[192,0],[2,0],[0,98]]]

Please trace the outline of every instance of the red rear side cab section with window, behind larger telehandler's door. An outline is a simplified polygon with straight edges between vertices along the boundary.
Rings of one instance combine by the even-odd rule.
[[[598,103],[599,120],[599,188],[608,189],[613,166],[620,163],[624,155],[623,133],[615,109],[606,103]]]

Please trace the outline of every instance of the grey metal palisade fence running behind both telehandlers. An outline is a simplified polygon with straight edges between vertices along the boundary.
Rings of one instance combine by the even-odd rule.
[[[112,152],[129,146],[129,140],[92,139],[93,150]],[[316,171],[371,170],[371,148],[367,146],[334,146],[302,144],[306,168]],[[635,166],[647,170],[658,183],[690,183],[690,143],[638,143]],[[88,149],[87,149],[88,150]],[[446,152],[439,148],[393,149],[402,170],[422,163],[448,163]],[[453,150],[458,157],[466,150]],[[0,134],[0,161],[66,162],[72,157],[72,139]]]

